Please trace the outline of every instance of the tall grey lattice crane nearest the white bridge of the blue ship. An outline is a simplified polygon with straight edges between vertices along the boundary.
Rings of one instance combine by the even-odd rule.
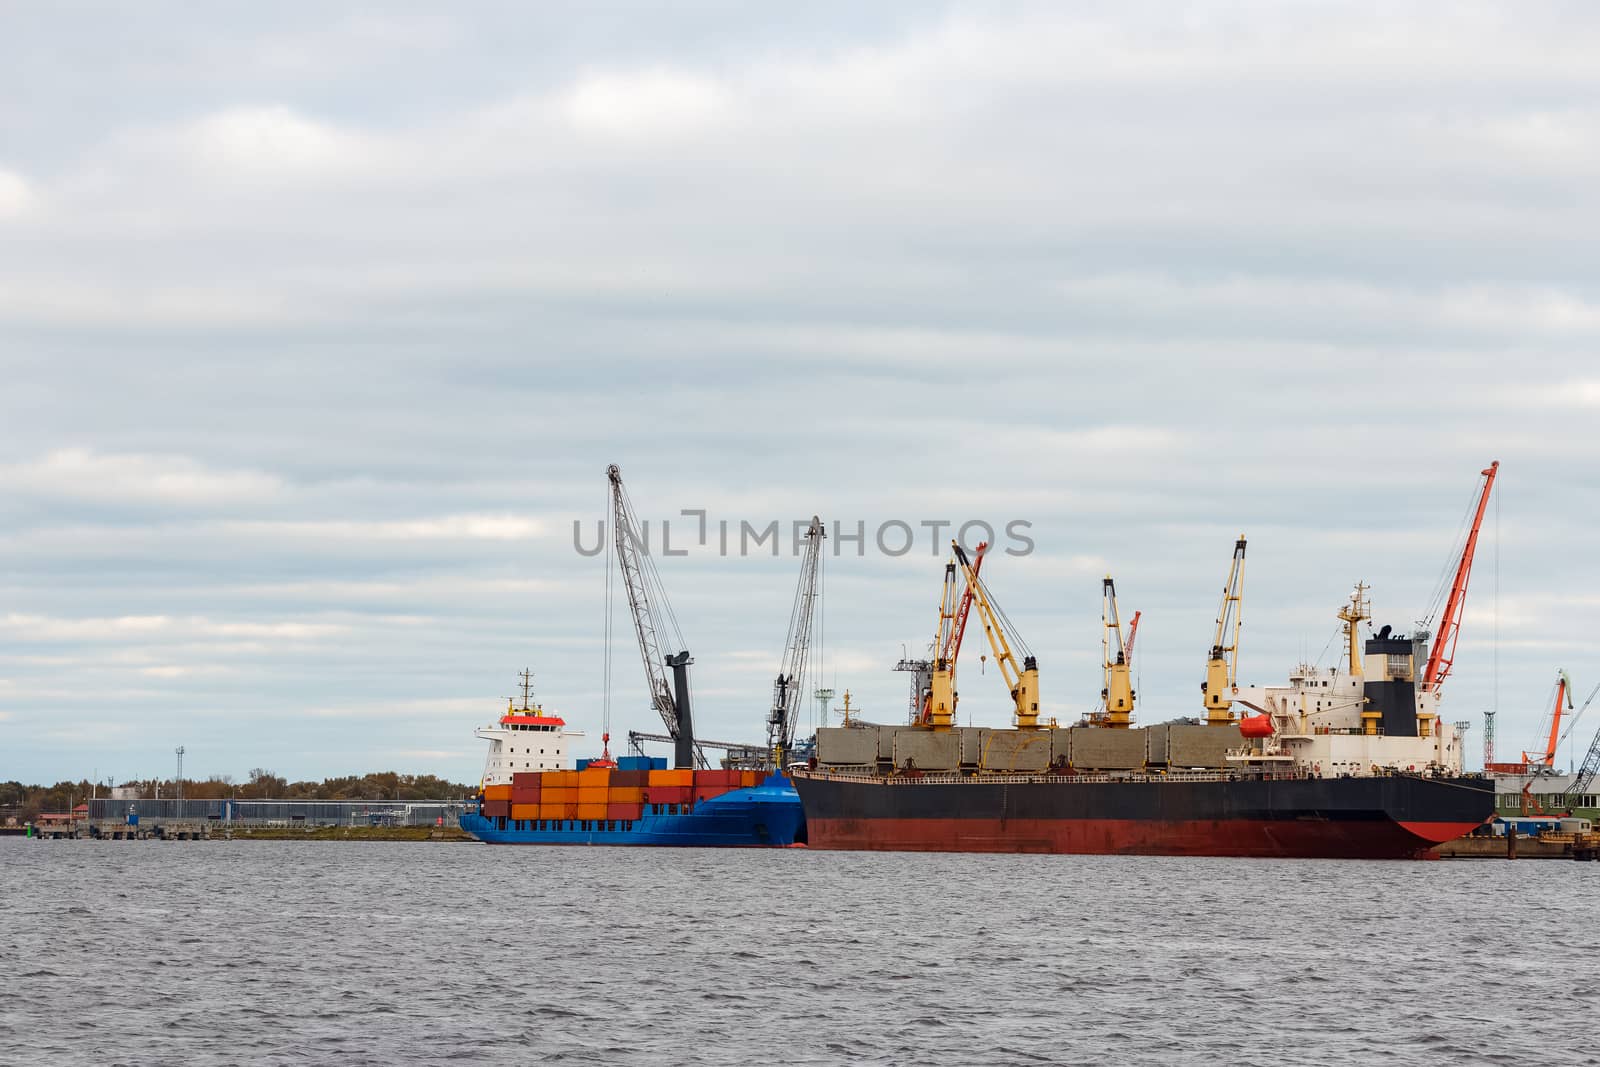
[[[680,768],[706,766],[706,753],[694,742],[694,720],[690,705],[690,664],[694,661],[683,648],[683,635],[678,632],[672,605],[661,585],[661,576],[645,550],[638,515],[627,498],[627,490],[622,488],[621,467],[616,464],[606,467],[606,478],[611,482],[611,530],[616,541],[616,561],[622,571],[622,585],[627,589],[627,606],[634,616],[638,656],[645,662],[650,702],[674,741],[674,765]],[[683,651],[662,654],[658,601],[659,617],[667,622],[675,646]],[[672,670],[670,685],[667,683],[667,669]]]

